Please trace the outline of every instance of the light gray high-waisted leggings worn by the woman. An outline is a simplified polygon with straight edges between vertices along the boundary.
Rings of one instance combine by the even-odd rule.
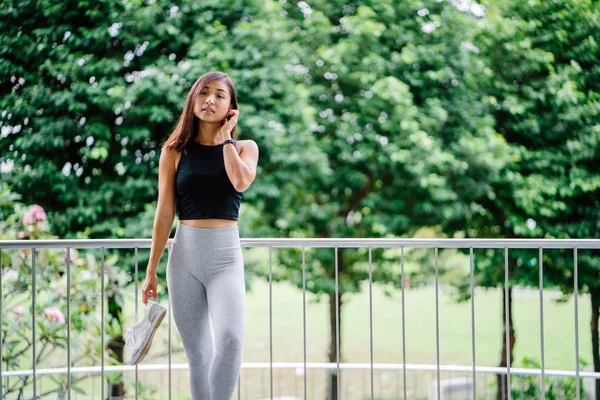
[[[190,366],[192,399],[231,400],[246,324],[238,228],[201,229],[179,223],[169,253],[167,285]],[[214,358],[209,314],[215,334]]]

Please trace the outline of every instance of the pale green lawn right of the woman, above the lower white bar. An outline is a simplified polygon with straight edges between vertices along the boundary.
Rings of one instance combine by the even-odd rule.
[[[347,298],[342,311],[342,356],[345,362],[370,361],[368,285],[362,293]],[[557,303],[556,292],[544,292],[544,351],[548,369],[575,367],[575,323],[572,299]],[[268,361],[268,284],[253,283],[247,295],[248,324],[244,361]],[[307,293],[307,360],[325,362],[329,343],[328,303],[315,302]],[[393,298],[373,287],[373,355],[376,363],[402,362],[402,303],[400,293]],[[539,291],[520,290],[513,298],[516,329],[515,362],[524,357],[540,360]],[[436,323],[434,287],[405,291],[406,360],[413,364],[435,364]],[[475,294],[475,343],[478,365],[495,366],[502,346],[502,293],[478,290]],[[457,303],[452,289],[440,289],[440,362],[471,365],[471,303]],[[580,358],[591,363],[590,304],[579,299]],[[302,291],[287,284],[273,287],[274,361],[303,360]]]

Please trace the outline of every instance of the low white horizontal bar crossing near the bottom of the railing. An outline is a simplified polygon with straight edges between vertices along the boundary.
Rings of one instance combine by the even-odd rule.
[[[242,369],[269,369],[269,362],[264,363],[242,363]],[[168,370],[168,364],[147,364],[147,365],[138,365],[139,371],[166,371]],[[273,363],[273,368],[276,369],[303,369],[304,363]],[[306,363],[306,368],[308,369],[331,369],[334,370],[337,368],[337,363]],[[373,364],[373,369],[378,370],[402,370],[404,368],[403,364]],[[188,364],[172,364],[172,370],[187,370]],[[358,369],[358,370],[369,370],[371,369],[370,363],[340,363],[340,369]],[[406,364],[407,370],[412,371],[436,371],[436,364]],[[441,371],[450,371],[450,372],[464,372],[464,373],[472,373],[473,368],[462,365],[440,365]],[[500,367],[476,367],[476,372],[479,373],[490,373],[490,374],[506,374],[506,368]],[[135,372],[135,366],[133,365],[119,365],[119,366],[105,366],[104,372],[126,372],[131,371]],[[97,367],[76,367],[71,368],[72,374],[77,373],[92,373],[92,374],[101,374],[102,368],[100,366]],[[540,376],[542,374],[541,369],[539,368],[511,368],[511,375],[530,375],[530,376]],[[11,377],[11,376],[31,376],[33,374],[33,370],[19,370],[19,371],[3,371],[3,377]],[[36,369],[36,375],[65,375],[67,374],[67,368],[46,368],[46,369]],[[562,376],[562,377],[576,377],[575,371],[563,371],[563,370],[544,370],[545,376]],[[600,379],[600,373],[598,372],[579,372],[580,378],[595,378]]]

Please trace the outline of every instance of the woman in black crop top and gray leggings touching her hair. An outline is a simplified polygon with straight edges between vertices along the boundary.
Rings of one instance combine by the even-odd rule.
[[[237,219],[242,192],[256,176],[258,147],[252,140],[235,140],[238,117],[232,79],[221,72],[204,74],[188,93],[159,162],[142,301],[147,305],[158,298],[156,267],[177,210],[167,285],[193,400],[230,400],[241,366],[246,293]]]

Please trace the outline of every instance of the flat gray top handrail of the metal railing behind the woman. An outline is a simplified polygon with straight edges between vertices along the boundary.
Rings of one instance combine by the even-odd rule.
[[[169,239],[167,245],[171,245]],[[600,249],[600,239],[376,239],[376,238],[243,238],[243,247],[409,247],[409,248],[521,248],[521,249]],[[149,248],[151,239],[0,240],[0,249],[44,248]]]

